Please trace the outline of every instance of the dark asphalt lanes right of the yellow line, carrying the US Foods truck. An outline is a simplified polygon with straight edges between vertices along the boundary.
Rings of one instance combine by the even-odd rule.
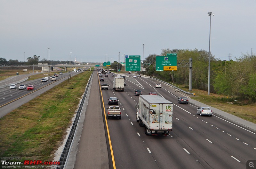
[[[94,80],[98,80],[95,76],[96,73]],[[256,159],[255,131],[231,123],[214,112],[212,117],[197,115],[196,108],[200,105],[194,104],[190,98],[188,105],[178,104],[178,97],[182,96],[180,92],[165,84],[162,84],[162,88],[155,88],[159,82],[151,78],[133,78],[131,74],[125,76],[124,92],[112,89],[111,76],[103,76],[104,82],[98,81],[99,84],[109,84],[108,90],[99,90],[103,98],[103,121],[109,97],[116,96],[122,109],[121,120],[107,119],[113,149],[113,154],[108,152],[110,168],[113,167],[112,155],[116,168],[246,168],[248,160]],[[134,96],[135,89],[141,89],[144,95],[156,91],[174,103],[173,130],[169,136],[145,135],[144,127],[136,122],[135,104],[139,96]],[[106,123],[104,125],[106,128]],[[110,150],[108,141],[107,146]],[[78,151],[84,148],[78,147]],[[75,168],[79,168],[79,159],[86,154],[88,152],[77,154]]]

